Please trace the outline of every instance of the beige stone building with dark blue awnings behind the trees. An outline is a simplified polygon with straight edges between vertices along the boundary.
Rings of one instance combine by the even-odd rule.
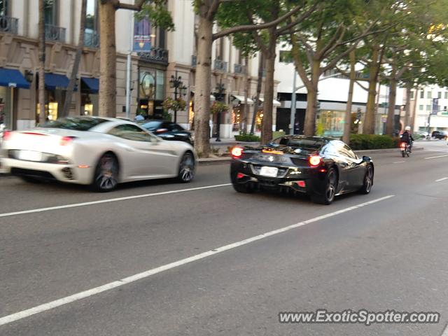
[[[100,32],[97,2],[87,0],[85,48],[77,90],[71,102],[72,116],[98,114]],[[64,105],[79,38],[80,5],[80,0],[45,0],[45,112],[49,119],[58,118]],[[163,118],[163,100],[176,95],[187,102],[186,111],[176,113],[177,122],[190,129],[194,118],[197,19],[191,1],[172,0],[168,7],[176,30],[165,32],[151,28],[151,52],[132,52],[130,117],[141,113],[146,118]],[[127,55],[134,42],[133,15],[130,10],[116,13],[116,113],[123,117],[126,116]],[[38,120],[37,38],[38,1],[0,0],[0,116],[10,129],[32,127]],[[250,105],[248,124],[251,122],[259,60],[258,57],[248,60],[241,57],[230,38],[221,38],[213,48],[212,92],[220,95],[215,94],[211,100],[218,97],[230,106],[230,110],[221,116],[221,137],[231,137],[239,132],[246,87]],[[181,77],[183,90],[170,85],[172,76]],[[258,121],[260,115],[262,111]],[[216,132],[217,116],[211,118]]]

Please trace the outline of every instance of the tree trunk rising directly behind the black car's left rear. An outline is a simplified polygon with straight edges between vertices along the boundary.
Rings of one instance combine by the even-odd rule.
[[[274,68],[275,68],[275,29],[269,29],[269,50],[265,55],[266,78],[265,78],[265,101],[263,102],[263,119],[261,130],[261,144],[267,144],[272,140],[272,109],[274,100]]]

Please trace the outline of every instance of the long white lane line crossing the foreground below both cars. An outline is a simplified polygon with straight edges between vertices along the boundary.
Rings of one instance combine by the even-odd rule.
[[[372,200],[372,201],[369,201],[369,202],[364,202],[364,203],[361,203],[361,204],[358,204],[358,205],[354,205],[353,207],[348,207],[348,208],[345,208],[345,209],[342,209],[342,210],[330,212],[330,214],[325,214],[323,216],[318,216],[318,217],[315,217],[315,218],[311,218],[311,219],[309,219],[307,221],[303,221],[303,222],[300,222],[300,223],[289,225],[289,226],[286,226],[284,228],[280,228],[280,229],[277,229],[277,230],[265,232],[262,235],[258,235],[258,236],[255,236],[255,237],[251,237],[251,238],[248,238],[248,239],[237,241],[236,243],[232,243],[232,244],[228,244],[228,245],[221,246],[221,247],[218,247],[218,248],[214,248],[213,250],[210,250],[210,251],[207,251],[207,252],[204,252],[204,253],[200,253],[200,254],[197,254],[197,255],[193,255],[193,256],[191,256],[189,258],[185,258],[185,259],[181,259],[181,260],[178,260],[178,261],[175,261],[175,262],[171,262],[169,264],[162,265],[160,267],[155,267],[153,269],[148,269],[145,272],[134,274],[132,276],[127,276],[126,278],[123,278],[123,279],[120,279],[120,280],[117,280],[117,281],[112,281],[110,283],[106,283],[106,284],[104,284],[102,286],[99,286],[99,287],[95,287],[95,288],[92,288],[92,289],[89,289],[89,290],[84,290],[83,292],[80,292],[80,293],[76,293],[76,294],[73,294],[73,295],[62,297],[61,299],[58,299],[58,300],[55,300],[55,301],[51,301],[51,302],[47,302],[47,303],[38,305],[36,307],[32,307],[30,309],[26,309],[26,310],[23,310],[23,311],[18,311],[15,314],[10,314],[10,315],[3,316],[2,318],[0,318],[0,325],[5,325],[5,324],[8,324],[8,323],[11,323],[11,322],[14,322],[14,321],[18,321],[18,320],[20,320],[22,318],[26,318],[26,317],[29,317],[29,316],[32,316],[32,315],[35,315],[35,314],[39,314],[39,313],[42,313],[43,311],[47,311],[47,310],[50,310],[50,309],[53,309],[53,308],[56,308],[56,307],[60,307],[63,304],[68,304],[68,303],[71,303],[71,302],[75,302],[75,301],[81,300],[81,299],[83,299],[85,297],[90,297],[92,295],[97,295],[97,294],[102,293],[102,292],[104,292],[106,290],[110,290],[110,289],[113,289],[113,288],[124,286],[124,285],[126,285],[128,283],[132,283],[132,282],[140,280],[140,279],[148,278],[148,276],[151,276],[151,275],[154,275],[154,274],[158,274],[160,272],[164,272],[164,271],[166,271],[168,269],[173,269],[175,267],[186,265],[186,264],[188,264],[190,262],[193,262],[193,261],[196,261],[196,260],[200,260],[200,259],[204,259],[204,258],[207,258],[207,257],[209,257],[211,255],[216,255],[218,253],[222,253],[224,251],[228,251],[228,250],[230,250],[232,248],[236,248],[238,246],[243,246],[243,245],[249,244],[249,243],[251,243],[253,241],[258,241],[260,239],[265,239],[265,238],[271,237],[273,235],[278,235],[281,232],[286,232],[286,231],[289,231],[289,230],[293,230],[295,228],[300,228],[301,226],[307,225],[309,223],[314,223],[316,221],[321,221],[321,220],[323,220],[325,218],[330,218],[332,216],[343,214],[344,212],[352,211],[352,210],[355,210],[355,209],[366,207],[366,206],[368,206],[370,204],[374,204],[374,203],[377,203],[377,202],[388,200],[389,198],[394,197],[394,196],[395,195],[388,195],[388,196],[384,196],[384,197],[381,197],[381,198],[377,198],[376,200]]]

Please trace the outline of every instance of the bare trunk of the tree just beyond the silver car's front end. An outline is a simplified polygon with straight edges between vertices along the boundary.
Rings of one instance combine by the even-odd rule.
[[[210,87],[213,21],[200,15],[197,29],[197,63],[195,78],[195,148],[204,157],[210,153]]]

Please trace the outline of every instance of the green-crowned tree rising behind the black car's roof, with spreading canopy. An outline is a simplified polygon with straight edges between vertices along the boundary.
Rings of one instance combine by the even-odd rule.
[[[291,29],[289,42],[294,63],[307,87],[304,134],[313,135],[315,132],[320,76],[335,68],[341,59],[358,47],[363,38],[379,33],[378,22],[387,9],[374,10],[378,5],[372,2],[324,1],[323,6],[298,29]],[[375,17],[372,13],[375,13]]]

